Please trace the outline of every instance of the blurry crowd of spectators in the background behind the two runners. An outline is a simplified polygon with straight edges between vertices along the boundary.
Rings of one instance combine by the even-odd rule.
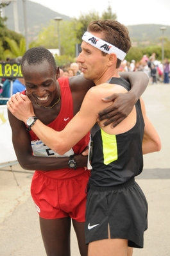
[[[16,58],[16,61],[21,62],[21,57]],[[10,60],[8,60],[10,61]],[[119,72],[132,72],[142,71],[149,76],[149,83],[157,84],[158,81],[163,83],[169,83],[170,77],[170,63],[168,58],[165,58],[164,63],[156,59],[156,54],[151,56],[144,55],[139,62],[132,60],[128,62],[124,59],[119,67]],[[60,67],[60,77],[67,76],[72,77],[81,73],[80,64],[75,61],[71,64],[66,64]],[[13,89],[10,89],[11,80],[1,78],[0,84],[0,105],[6,105],[7,100],[1,98],[9,98],[11,94],[16,92],[22,92],[25,89],[25,83],[23,78],[17,78],[13,80]]]

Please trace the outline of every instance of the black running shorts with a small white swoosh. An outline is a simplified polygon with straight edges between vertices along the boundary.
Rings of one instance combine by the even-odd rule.
[[[143,248],[148,228],[148,203],[134,179],[114,187],[89,185],[87,195],[86,244],[108,238],[128,239],[128,246]]]

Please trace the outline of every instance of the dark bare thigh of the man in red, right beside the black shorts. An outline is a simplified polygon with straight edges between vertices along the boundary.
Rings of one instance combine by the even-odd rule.
[[[75,221],[74,219],[72,219],[72,225],[74,226],[74,230],[76,232],[80,255],[87,256],[88,246],[85,244],[85,223],[78,222],[78,221]]]

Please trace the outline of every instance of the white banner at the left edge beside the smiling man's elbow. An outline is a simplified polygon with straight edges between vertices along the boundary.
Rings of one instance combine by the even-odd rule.
[[[17,160],[12,144],[12,130],[6,105],[0,106],[0,165]]]

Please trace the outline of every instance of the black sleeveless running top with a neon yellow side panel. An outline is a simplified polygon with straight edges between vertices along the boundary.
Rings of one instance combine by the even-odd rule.
[[[130,90],[130,83],[123,78],[112,78],[109,83]],[[144,119],[140,101],[137,101],[135,108],[137,121],[128,132],[110,135],[99,128],[98,124],[92,128],[93,154],[89,183],[110,187],[127,182],[142,172]]]

